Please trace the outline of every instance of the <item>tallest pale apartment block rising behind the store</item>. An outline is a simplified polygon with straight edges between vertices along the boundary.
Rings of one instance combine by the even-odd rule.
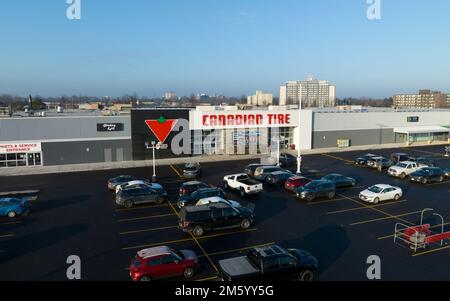
[[[288,81],[280,87],[280,105],[302,103],[303,107],[334,107],[336,86],[308,76],[304,81]]]

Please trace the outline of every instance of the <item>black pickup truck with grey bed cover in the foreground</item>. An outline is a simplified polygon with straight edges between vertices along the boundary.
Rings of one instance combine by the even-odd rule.
[[[220,260],[223,281],[313,281],[318,261],[309,252],[273,245],[251,249],[247,256]]]

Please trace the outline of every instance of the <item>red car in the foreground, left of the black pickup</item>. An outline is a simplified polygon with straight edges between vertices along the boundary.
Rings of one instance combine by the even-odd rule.
[[[190,279],[198,268],[199,261],[194,252],[161,246],[139,251],[131,260],[130,276],[133,281],[177,276]]]

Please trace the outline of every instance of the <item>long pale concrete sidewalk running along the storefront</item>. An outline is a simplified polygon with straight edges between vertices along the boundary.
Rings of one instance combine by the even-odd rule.
[[[448,145],[447,142],[435,142],[431,146]],[[372,151],[380,149],[392,149],[392,148],[408,148],[418,146],[430,146],[428,143],[414,143],[414,145],[406,146],[401,144],[375,144],[354,146],[348,148],[326,148],[326,149],[314,149],[302,151],[302,155],[314,155],[314,154],[327,154],[327,153],[340,153],[340,152],[352,152],[352,151]],[[444,151],[444,149],[442,149]],[[293,155],[297,155],[297,151],[288,150],[284,151]],[[444,152],[442,152],[444,154]],[[201,157],[180,157],[171,159],[158,159],[156,160],[157,166],[167,166],[184,164],[186,162],[227,162],[238,160],[259,160],[261,158],[267,158],[265,155],[213,155],[213,156],[201,156]],[[41,174],[55,174],[55,173],[71,173],[71,172],[83,172],[94,170],[111,170],[111,169],[124,169],[134,167],[151,167],[152,161],[125,161],[125,162],[108,162],[108,163],[90,163],[90,164],[75,164],[75,165],[58,165],[58,166],[41,166],[41,167],[17,167],[17,168],[4,168],[0,170],[0,177],[2,176],[26,176],[26,175],[41,175]]]

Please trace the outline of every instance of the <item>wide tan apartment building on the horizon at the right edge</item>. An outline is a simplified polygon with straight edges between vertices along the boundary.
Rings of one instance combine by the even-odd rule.
[[[450,108],[450,94],[431,90],[420,90],[419,94],[399,94],[394,96],[393,106],[415,109]]]

